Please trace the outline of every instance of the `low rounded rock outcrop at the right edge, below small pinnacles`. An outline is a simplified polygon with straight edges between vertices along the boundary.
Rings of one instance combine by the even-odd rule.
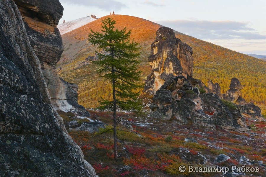
[[[251,118],[253,120],[259,121],[265,120],[262,117],[261,109],[254,103],[247,103],[244,105],[239,105],[238,107],[240,109],[241,114],[246,118]]]

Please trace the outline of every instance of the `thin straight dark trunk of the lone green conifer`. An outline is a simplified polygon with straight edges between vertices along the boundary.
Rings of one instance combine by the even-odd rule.
[[[112,73],[114,72],[112,66]],[[113,148],[114,148],[114,160],[117,161],[117,138],[116,138],[116,91],[115,80],[113,79]]]

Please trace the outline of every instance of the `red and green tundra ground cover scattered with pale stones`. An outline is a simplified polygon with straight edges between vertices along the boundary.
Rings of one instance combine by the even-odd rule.
[[[110,113],[90,113],[94,118],[111,125]],[[129,122],[133,131],[122,125],[118,127],[117,162],[113,161],[112,132],[97,136],[85,131],[69,132],[81,147],[85,160],[93,165],[99,176],[216,176],[220,173],[180,173],[178,167],[213,166],[219,154],[230,157],[218,164],[220,166],[241,166],[243,162],[240,162],[240,158],[245,156],[251,162],[247,166],[260,168],[259,173],[247,174],[262,176],[265,173],[265,167],[259,165],[266,163],[265,137],[258,133],[265,133],[265,122],[248,122],[250,125],[254,124],[256,130],[240,133],[195,127],[191,124],[173,127],[173,122],[135,117],[130,113],[119,113],[119,117]],[[193,138],[198,143],[186,142],[185,138]]]

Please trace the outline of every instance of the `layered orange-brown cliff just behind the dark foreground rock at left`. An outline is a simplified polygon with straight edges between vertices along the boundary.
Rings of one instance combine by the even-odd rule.
[[[56,71],[56,63],[64,51],[62,38],[56,25],[62,17],[64,8],[58,0],[14,1],[22,15],[30,44],[40,60],[53,106],[56,110],[89,117],[89,112],[77,104],[78,86],[59,78]]]

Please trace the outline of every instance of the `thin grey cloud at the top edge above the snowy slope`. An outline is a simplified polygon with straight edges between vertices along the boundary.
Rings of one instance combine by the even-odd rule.
[[[126,7],[125,4],[115,1],[115,0],[60,0],[61,3],[73,4],[73,5],[83,5],[83,6],[92,6],[97,7],[102,10],[121,10],[123,7]]]

